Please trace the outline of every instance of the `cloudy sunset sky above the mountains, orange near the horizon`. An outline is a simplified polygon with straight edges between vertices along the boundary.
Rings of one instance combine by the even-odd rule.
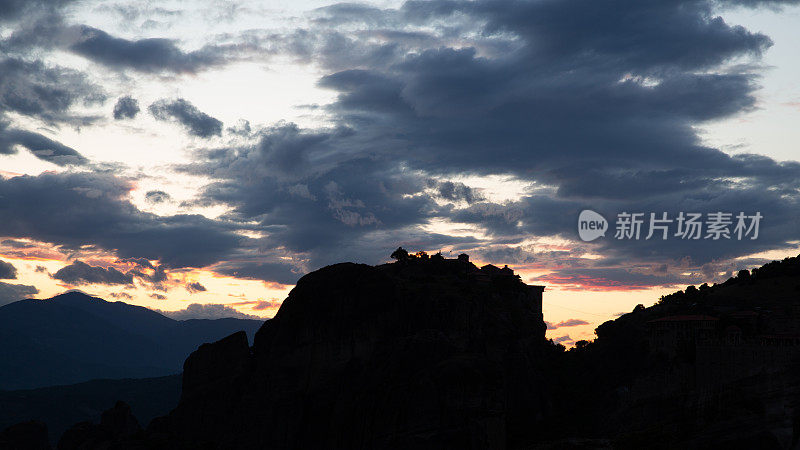
[[[591,339],[800,253],[798,4],[0,0],[0,304],[271,317],[402,245],[507,264]],[[615,236],[682,212],[749,235]]]

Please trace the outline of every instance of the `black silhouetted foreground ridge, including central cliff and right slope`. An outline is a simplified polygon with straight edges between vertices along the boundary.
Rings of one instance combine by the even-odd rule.
[[[544,338],[543,288],[510,269],[395,257],[306,275],[253,347],[236,333],[186,360],[169,415],[141,430],[117,404],[99,425],[73,427],[58,448],[800,443],[800,257],[639,305],[570,351]],[[3,439],[41,443],[43,430],[9,428],[0,448]]]

